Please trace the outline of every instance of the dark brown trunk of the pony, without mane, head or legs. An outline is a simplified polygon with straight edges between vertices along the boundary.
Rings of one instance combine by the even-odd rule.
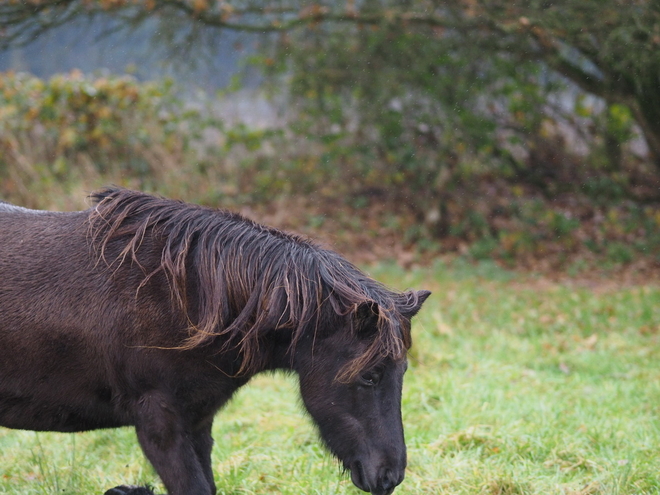
[[[200,403],[193,407],[209,415],[246,381],[232,378],[235,352],[168,350],[187,337],[188,325],[171,311],[167,281],[155,278],[136,297],[140,270],[126,263],[113,271],[90,255],[87,212],[17,211],[11,222],[3,215],[3,426],[70,432],[132,425],[136,400],[163,386],[193,397],[202,390],[202,397],[191,397]],[[186,376],[194,379],[182,383]],[[220,396],[220,403],[206,404],[209,396]]]

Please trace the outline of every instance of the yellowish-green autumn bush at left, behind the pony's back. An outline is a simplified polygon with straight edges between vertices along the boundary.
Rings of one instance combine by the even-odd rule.
[[[0,74],[2,190],[28,196],[33,187],[104,175],[145,187],[193,154],[202,129],[218,125],[185,108],[171,81]]]

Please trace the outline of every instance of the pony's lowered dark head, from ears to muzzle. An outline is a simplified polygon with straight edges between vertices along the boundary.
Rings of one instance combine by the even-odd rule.
[[[364,302],[350,314],[330,314],[325,331],[305,336],[295,353],[301,395],[321,438],[353,483],[374,495],[389,495],[404,477],[401,390],[410,319],[429,295],[408,292],[396,307]],[[399,346],[387,345],[396,340]]]

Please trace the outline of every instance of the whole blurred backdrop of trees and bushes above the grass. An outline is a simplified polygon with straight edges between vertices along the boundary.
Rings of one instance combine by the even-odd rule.
[[[108,183],[364,262],[660,267],[657,0],[0,2],[0,197]]]

